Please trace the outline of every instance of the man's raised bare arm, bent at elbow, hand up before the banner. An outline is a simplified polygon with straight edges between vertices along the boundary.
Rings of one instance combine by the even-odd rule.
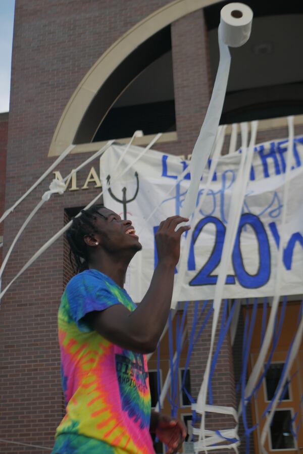
[[[135,311],[129,312],[123,305],[115,305],[101,312],[90,313],[86,318],[92,328],[110,342],[145,354],[156,349],[171,306],[181,235],[190,227],[175,229],[178,224],[187,221],[187,218],[172,216],[161,222],[155,235],[158,265]]]

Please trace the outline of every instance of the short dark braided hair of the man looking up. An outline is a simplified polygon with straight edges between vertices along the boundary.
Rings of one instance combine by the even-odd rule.
[[[96,233],[95,221],[104,205],[93,205],[88,210],[81,210],[81,215],[72,218],[72,225],[66,232],[70,246],[69,258],[75,274],[88,268],[88,248],[84,236]]]

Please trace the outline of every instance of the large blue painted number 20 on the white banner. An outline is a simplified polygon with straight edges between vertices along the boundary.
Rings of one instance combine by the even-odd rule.
[[[226,229],[223,222],[214,216],[207,216],[201,219],[194,228],[188,256],[188,270],[195,270],[194,244],[203,228],[209,223],[214,224],[216,228],[215,245],[206,264],[189,282],[189,285],[192,286],[215,285],[217,283],[218,276],[211,273],[220,263]],[[257,258],[259,259],[259,266],[256,274],[247,273],[243,264],[240,237],[245,225],[249,225],[254,229],[258,241],[259,253]],[[258,216],[250,213],[242,214],[232,253],[232,263],[238,282],[242,287],[258,288],[268,282],[270,277],[270,246],[266,230]],[[228,275],[226,284],[235,284],[235,277]]]

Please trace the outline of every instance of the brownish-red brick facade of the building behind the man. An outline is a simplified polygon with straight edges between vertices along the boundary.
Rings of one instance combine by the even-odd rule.
[[[47,153],[55,128],[84,75],[121,35],[168,3],[169,0],[16,0],[6,209],[53,162],[47,158]],[[173,23],[171,33],[178,141],[158,148],[187,155],[192,150],[211,95],[203,10]],[[0,121],[1,182],[5,179],[3,161],[7,128],[7,122]],[[273,137],[277,134],[274,131]],[[282,135],[285,136],[286,131]],[[265,138],[271,137],[259,134],[258,139]],[[60,165],[62,175],[83,159],[82,154],[68,157]],[[4,253],[50,181],[51,176],[5,221]],[[0,185],[1,212],[3,191],[4,187]],[[86,205],[95,194],[91,187],[67,191],[64,196],[57,195],[48,201],[19,239],[2,288],[29,257],[63,227],[66,222],[64,210]],[[63,414],[57,311],[70,272],[64,261],[66,256],[61,237],[12,285],[1,301],[0,438],[47,447],[54,443],[55,430]],[[189,312],[191,324],[192,309]],[[195,394],[206,363],[201,351],[206,350],[208,338],[207,331],[192,357]],[[228,339],[221,351],[214,383],[214,403],[234,405],[233,361]],[[218,419],[217,423],[222,428],[225,421]],[[233,425],[229,422],[227,427]],[[45,451],[0,443],[0,452],[41,454]]]

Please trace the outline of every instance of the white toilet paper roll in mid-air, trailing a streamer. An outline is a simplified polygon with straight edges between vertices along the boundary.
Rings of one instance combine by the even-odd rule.
[[[253,13],[243,3],[229,3],[221,10],[222,39],[230,47],[240,47],[250,36]]]

